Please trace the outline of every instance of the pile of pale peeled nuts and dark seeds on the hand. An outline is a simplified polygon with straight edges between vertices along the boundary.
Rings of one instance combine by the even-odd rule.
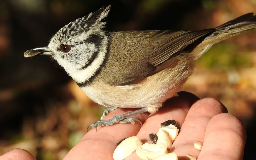
[[[144,160],[178,160],[177,155],[174,152],[168,153],[168,150],[172,147],[179,130],[180,125],[175,120],[163,122],[157,134],[149,135],[153,144],[142,145],[141,140],[136,136],[123,139],[118,142],[119,145],[113,153],[113,158],[122,160],[136,151],[137,156]]]

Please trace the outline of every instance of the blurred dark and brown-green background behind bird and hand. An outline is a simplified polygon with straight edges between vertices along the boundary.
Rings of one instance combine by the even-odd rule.
[[[47,46],[70,21],[112,5],[106,28],[121,30],[214,28],[245,13],[256,0],[1,0],[0,154],[23,148],[38,160],[62,159],[100,119],[93,103],[51,58],[24,58]],[[244,159],[254,157],[256,29],[215,44],[196,63],[182,90],[220,100],[244,122]]]

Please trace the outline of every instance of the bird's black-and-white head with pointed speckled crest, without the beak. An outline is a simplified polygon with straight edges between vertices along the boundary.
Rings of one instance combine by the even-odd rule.
[[[76,81],[89,81],[103,65],[108,37],[104,31],[110,6],[72,21],[62,27],[50,40],[52,57]]]

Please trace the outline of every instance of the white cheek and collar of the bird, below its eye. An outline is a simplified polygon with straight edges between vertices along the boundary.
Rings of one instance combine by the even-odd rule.
[[[87,46],[73,48],[72,52],[64,58],[61,57],[61,54],[63,54],[61,51],[55,51],[52,57],[66,70],[74,81],[83,83],[93,77],[103,64],[107,54],[107,37],[103,39],[102,47],[96,49],[93,46],[95,46],[95,44],[91,43],[87,44]],[[91,48],[91,50],[89,48]],[[93,60],[92,54],[96,54]],[[86,64],[89,65],[86,66],[86,68],[82,68]]]

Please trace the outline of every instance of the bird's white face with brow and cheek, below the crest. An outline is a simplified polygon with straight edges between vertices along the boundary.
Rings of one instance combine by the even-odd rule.
[[[85,42],[93,34],[97,34],[102,38],[99,46],[93,42]],[[74,81],[84,83],[95,76],[105,60],[108,44],[107,35],[100,28],[93,28],[82,32],[79,36],[74,36],[72,41],[74,43],[81,43],[76,44],[67,53],[63,53],[58,49],[63,42],[58,41],[56,36],[52,37],[48,48],[53,51],[52,57],[66,70]],[[65,43],[72,46],[70,41]]]

